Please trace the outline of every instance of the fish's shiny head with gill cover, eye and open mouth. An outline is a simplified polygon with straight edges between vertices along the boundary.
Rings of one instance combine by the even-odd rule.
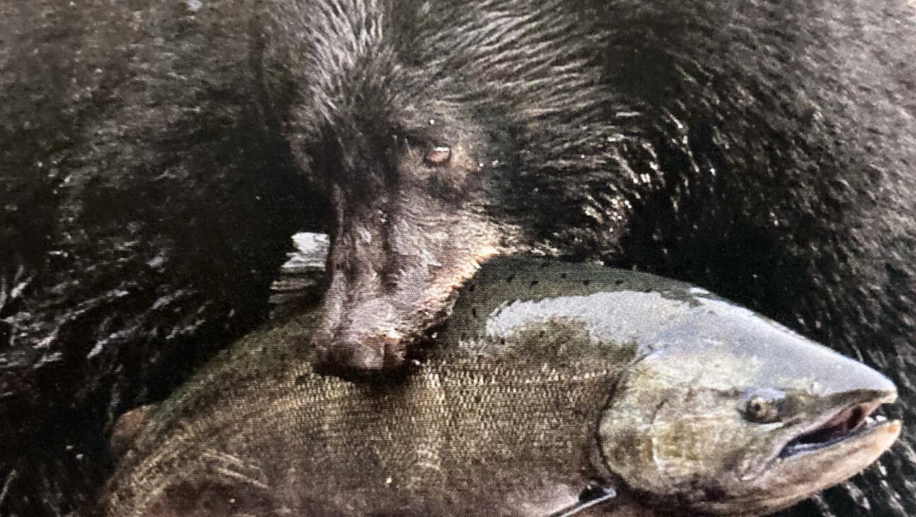
[[[639,500],[776,512],[854,476],[900,436],[900,421],[872,416],[897,397],[887,377],[750,311],[718,309],[660,336],[605,407],[602,467]]]

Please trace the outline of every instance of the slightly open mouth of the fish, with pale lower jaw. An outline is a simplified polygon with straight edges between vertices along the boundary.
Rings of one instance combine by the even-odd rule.
[[[897,393],[882,393],[865,402],[846,404],[818,418],[780,449],[779,458],[794,458],[837,446],[856,438],[867,439],[879,430],[898,426],[900,421],[878,415],[878,409],[893,404]]]

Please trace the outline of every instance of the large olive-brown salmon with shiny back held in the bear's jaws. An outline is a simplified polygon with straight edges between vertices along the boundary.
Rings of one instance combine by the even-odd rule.
[[[871,416],[896,398],[880,373],[653,275],[492,261],[385,386],[311,372],[310,321],[242,339],[156,409],[108,513],[765,514],[900,434]]]

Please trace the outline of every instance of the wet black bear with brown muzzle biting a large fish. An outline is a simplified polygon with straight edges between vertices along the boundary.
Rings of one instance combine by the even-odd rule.
[[[84,501],[112,416],[263,318],[309,225],[329,371],[397,368],[476,264],[529,251],[705,285],[916,416],[906,0],[43,0],[0,24],[0,512]],[[914,445],[823,512],[916,512]]]

